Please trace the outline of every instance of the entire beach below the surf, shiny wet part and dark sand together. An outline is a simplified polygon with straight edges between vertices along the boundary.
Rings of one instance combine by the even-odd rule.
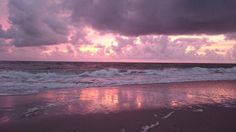
[[[1,96],[0,131],[234,132],[235,89],[212,81]]]

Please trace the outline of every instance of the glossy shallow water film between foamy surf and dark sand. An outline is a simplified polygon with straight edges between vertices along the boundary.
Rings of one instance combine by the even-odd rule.
[[[217,104],[236,106],[236,82],[192,82],[49,90],[0,96],[0,124],[48,115],[112,113]]]

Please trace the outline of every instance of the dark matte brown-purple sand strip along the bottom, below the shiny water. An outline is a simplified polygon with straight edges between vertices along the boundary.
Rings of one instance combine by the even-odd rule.
[[[170,112],[173,112],[168,118]],[[158,121],[159,125],[151,127]],[[204,106],[203,112],[155,109],[29,118],[2,124],[1,132],[235,132],[236,108]]]

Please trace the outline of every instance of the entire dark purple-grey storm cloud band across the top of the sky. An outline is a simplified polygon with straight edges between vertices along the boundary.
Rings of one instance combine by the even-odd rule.
[[[59,44],[69,26],[85,25],[128,36],[231,33],[235,7],[236,0],[8,0],[11,28],[0,37],[16,46]]]

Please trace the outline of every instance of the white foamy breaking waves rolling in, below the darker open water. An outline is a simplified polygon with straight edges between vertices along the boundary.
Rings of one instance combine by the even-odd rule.
[[[0,71],[0,95],[30,94],[46,89],[104,87],[127,84],[236,80],[232,68],[105,68],[82,73]]]

